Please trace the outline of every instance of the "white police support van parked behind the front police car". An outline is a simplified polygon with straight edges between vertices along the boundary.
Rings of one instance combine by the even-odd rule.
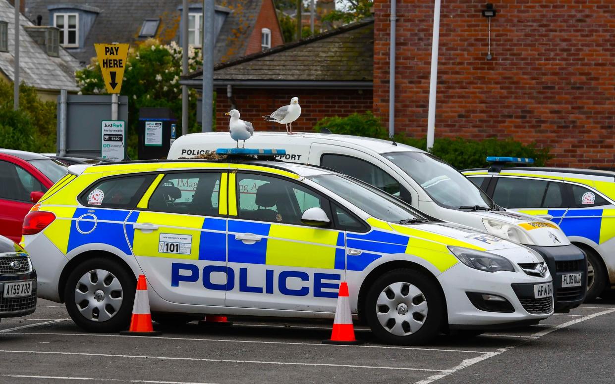
[[[168,159],[190,159],[234,144],[228,132],[192,133],[173,143]],[[466,176],[421,149],[359,136],[327,133],[287,135],[285,132],[256,132],[247,146],[284,148],[286,154],[280,156],[280,160],[319,165],[348,174],[437,219],[467,225],[529,246],[542,255],[554,276],[556,312],[568,312],[585,299],[584,289],[574,297],[561,291],[561,281],[566,274],[558,269],[562,262],[587,263],[584,252],[568,241],[557,224],[497,206]],[[581,273],[581,286],[585,286],[587,268],[584,267]]]

